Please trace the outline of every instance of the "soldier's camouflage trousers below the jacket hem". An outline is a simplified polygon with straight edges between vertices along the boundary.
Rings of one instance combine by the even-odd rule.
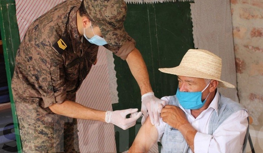
[[[64,127],[24,123],[23,121],[23,119],[19,119],[19,131],[23,147],[22,152],[80,152],[77,119],[64,123]]]

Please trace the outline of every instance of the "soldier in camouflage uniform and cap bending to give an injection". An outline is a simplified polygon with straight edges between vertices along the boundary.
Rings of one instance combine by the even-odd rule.
[[[105,112],[75,103],[99,45],[127,61],[146,99],[143,113],[148,109],[152,120],[158,118],[154,110],[164,104],[154,96],[142,56],[123,27],[126,9],[123,0],[66,0],[29,26],[12,79],[23,152],[79,152],[76,119],[122,129],[135,125],[137,108]]]

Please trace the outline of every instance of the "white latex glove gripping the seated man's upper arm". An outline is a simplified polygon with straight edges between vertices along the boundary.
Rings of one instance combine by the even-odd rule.
[[[160,113],[165,105],[165,101],[156,98],[153,92],[148,92],[142,95],[142,124],[149,115],[152,125],[159,125]]]

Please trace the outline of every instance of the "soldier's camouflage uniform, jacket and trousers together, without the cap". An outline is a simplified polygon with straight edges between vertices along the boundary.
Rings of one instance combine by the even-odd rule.
[[[36,19],[17,51],[12,92],[24,152],[79,151],[76,119],[48,107],[65,99],[75,101],[97,58],[98,46],[78,33],[80,3],[64,1]],[[105,47],[125,59],[134,43]]]

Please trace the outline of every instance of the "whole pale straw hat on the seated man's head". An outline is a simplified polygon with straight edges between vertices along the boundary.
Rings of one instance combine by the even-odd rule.
[[[159,68],[164,73],[177,76],[198,77],[219,81],[218,87],[235,88],[234,85],[220,79],[222,59],[207,50],[190,49],[183,56],[179,66]]]

